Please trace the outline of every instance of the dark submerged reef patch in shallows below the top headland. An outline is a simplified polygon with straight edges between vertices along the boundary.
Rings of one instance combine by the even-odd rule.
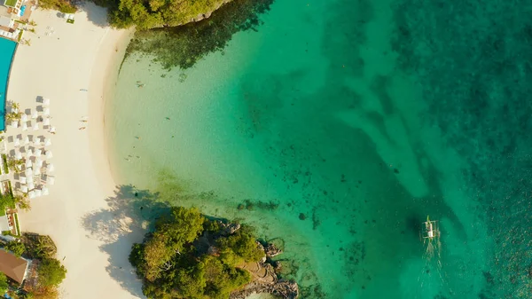
[[[175,28],[137,31],[128,53],[138,51],[155,57],[162,67],[192,67],[210,52],[221,51],[232,35],[256,30],[259,15],[270,9],[273,0],[232,0],[207,20]]]

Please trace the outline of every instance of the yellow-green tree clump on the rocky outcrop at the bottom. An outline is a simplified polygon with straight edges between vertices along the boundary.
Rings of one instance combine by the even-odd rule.
[[[134,244],[129,262],[143,279],[148,298],[228,298],[251,280],[237,265],[264,256],[250,229],[224,233],[221,223],[198,209],[172,208],[142,244]]]

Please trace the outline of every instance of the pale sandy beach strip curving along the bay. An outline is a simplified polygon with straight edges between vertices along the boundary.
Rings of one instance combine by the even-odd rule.
[[[34,109],[38,96],[50,98],[51,123],[57,129],[50,146],[55,185],[50,195],[31,201],[30,212],[20,213],[20,228],[48,234],[56,242],[58,258],[65,257],[68,271],[61,286],[64,298],[137,298],[133,294],[140,294],[141,285],[131,272],[128,254],[131,242],[142,240],[142,235],[129,234],[129,239],[113,244],[119,256],[113,257],[113,264],[123,271],[119,283],[116,273],[113,278],[108,273],[110,257],[101,248],[105,242],[82,223],[83,216],[106,209],[106,198],[114,194],[104,138],[104,90],[116,78],[129,37],[127,31],[105,26],[104,9],[86,5],[75,14],[74,24],[67,24],[58,12],[33,12],[36,34],[26,32],[31,45],[20,44],[15,54],[7,100],[24,110]],[[52,35],[45,35],[51,30]],[[89,121],[80,122],[82,117]],[[79,130],[83,126],[86,130]],[[6,128],[9,135],[11,127]],[[131,280],[127,285],[135,292],[122,287],[124,279]]]

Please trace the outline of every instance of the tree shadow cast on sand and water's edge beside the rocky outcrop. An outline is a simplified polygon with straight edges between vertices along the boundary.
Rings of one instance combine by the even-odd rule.
[[[109,255],[106,271],[131,295],[144,298],[142,283],[128,261],[131,245],[142,242],[154,220],[165,215],[169,206],[159,193],[138,190],[133,185],[117,185],[114,196],[106,199],[106,209],[93,211],[82,218],[91,239],[104,244],[100,249]]]

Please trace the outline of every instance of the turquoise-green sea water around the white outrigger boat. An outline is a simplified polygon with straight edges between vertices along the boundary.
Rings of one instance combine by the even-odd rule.
[[[190,69],[129,56],[114,177],[254,225],[302,298],[529,298],[531,8],[276,0]]]

